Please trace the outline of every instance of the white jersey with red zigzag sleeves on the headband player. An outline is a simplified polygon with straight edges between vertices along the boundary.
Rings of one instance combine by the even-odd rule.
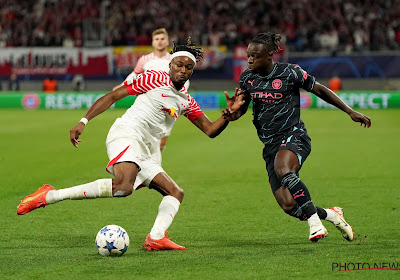
[[[137,97],[121,121],[155,139],[168,136],[180,115],[193,122],[204,114],[185,86],[177,90],[165,71],[149,70],[124,84]]]

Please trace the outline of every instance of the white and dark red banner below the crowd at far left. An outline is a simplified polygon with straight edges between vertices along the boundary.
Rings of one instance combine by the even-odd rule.
[[[3,48],[0,75],[110,75],[112,48]]]

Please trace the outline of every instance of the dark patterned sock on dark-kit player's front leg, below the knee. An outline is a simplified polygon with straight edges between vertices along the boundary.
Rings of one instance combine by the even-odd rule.
[[[307,219],[317,212],[306,185],[304,185],[296,173],[289,172],[283,175],[281,185],[289,190]]]

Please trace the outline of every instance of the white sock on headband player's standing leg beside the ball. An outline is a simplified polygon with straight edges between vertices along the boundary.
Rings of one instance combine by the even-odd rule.
[[[152,239],[161,239],[165,235],[165,231],[169,228],[181,203],[173,196],[164,196],[158,207],[158,215],[154,226],[151,229],[150,237]]]

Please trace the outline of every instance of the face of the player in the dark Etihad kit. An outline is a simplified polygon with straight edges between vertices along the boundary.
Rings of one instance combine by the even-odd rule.
[[[247,66],[254,72],[264,72],[272,63],[272,56],[269,51],[262,45],[250,43],[247,47]]]

